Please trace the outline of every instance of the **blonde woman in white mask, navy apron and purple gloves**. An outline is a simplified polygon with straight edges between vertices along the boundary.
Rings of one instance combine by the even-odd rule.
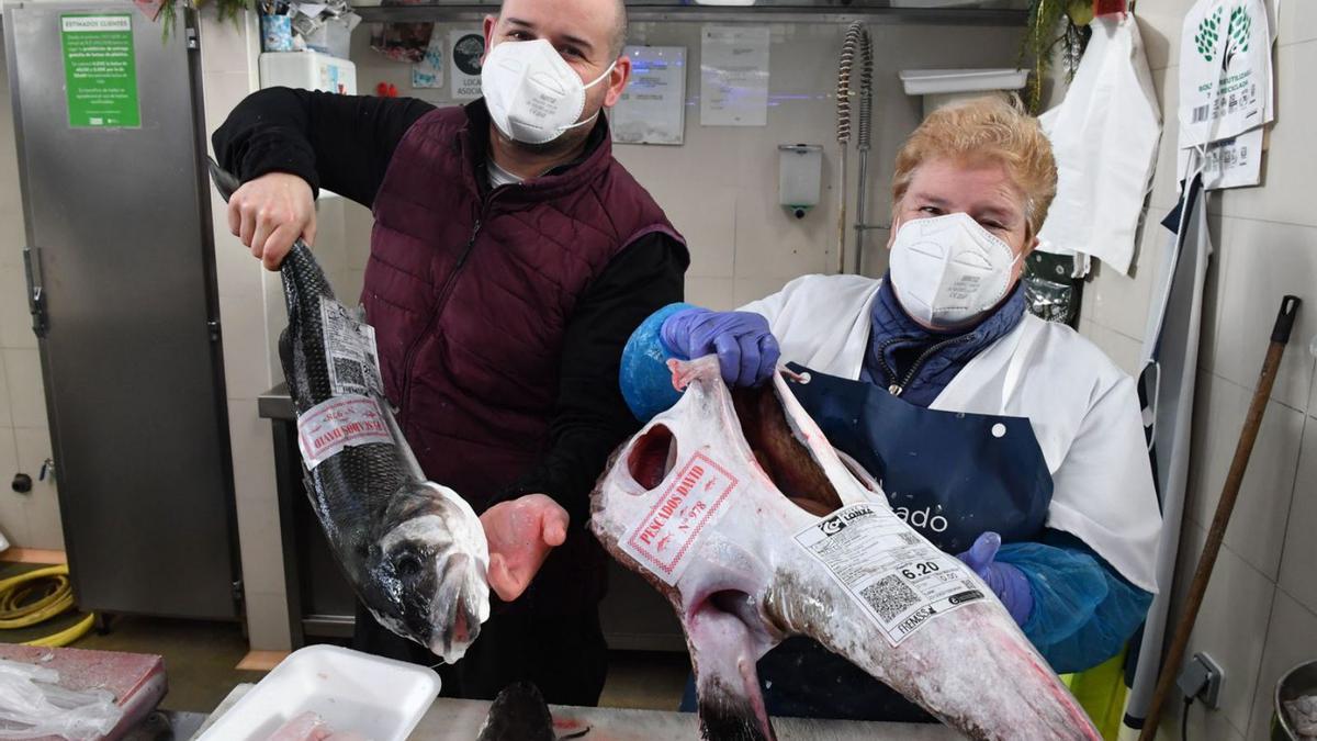
[[[676,401],[666,357],[716,353],[734,386],[761,384],[778,357],[807,370],[792,390],[828,440],[1071,672],[1142,622],[1160,514],[1133,380],[1026,311],[1022,262],[1055,190],[1034,119],[997,98],[943,108],[897,157],[882,280],[807,276],[731,312],[665,307],[622,372],[648,419]],[[772,713],[927,719],[809,639],[759,674]]]

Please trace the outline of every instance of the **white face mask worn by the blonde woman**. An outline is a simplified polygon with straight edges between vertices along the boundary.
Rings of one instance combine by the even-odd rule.
[[[914,219],[892,243],[892,287],[919,323],[952,327],[997,306],[1018,260],[968,214]]]

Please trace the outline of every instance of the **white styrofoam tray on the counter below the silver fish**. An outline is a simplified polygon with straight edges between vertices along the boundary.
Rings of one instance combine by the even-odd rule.
[[[266,741],[311,711],[335,730],[406,741],[439,696],[433,670],[340,649],[307,646],[279,662],[199,741]]]

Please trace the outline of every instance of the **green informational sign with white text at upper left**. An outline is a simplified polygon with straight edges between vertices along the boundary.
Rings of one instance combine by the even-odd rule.
[[[133,16],[67,15],[59,17],[59,24],[68,125],[140,127]]]

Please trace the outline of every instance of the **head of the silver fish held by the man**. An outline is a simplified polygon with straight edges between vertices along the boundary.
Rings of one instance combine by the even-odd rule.
[[[448,663],[462,658],[490,613],[489,542],[471,506],[446,487],[408,483],[373,542],[378,593],[366,601],[379,622]]]

